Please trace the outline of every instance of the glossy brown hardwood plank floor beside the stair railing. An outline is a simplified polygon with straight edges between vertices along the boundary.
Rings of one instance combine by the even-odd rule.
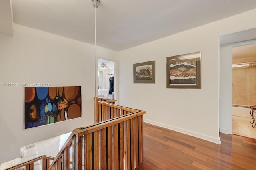
[[[256,140],[220,133],[220,145],[144,123],[138,170],[256,170]]]

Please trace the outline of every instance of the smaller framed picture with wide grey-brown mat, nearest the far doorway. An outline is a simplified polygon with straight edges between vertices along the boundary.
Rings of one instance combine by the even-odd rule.
[[[134,64],[133,83],[155,83],[155,61]]]

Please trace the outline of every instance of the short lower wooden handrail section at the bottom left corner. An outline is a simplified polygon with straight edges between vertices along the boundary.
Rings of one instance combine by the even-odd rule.
[[[21,168],[23,166],[26,166],[26,169],[33,169],[32,168],[34,166],[33,163],[38,161],[38,160],[43,160],[43,170],[46,170],[50,165],[49,160],[54,160],[54,158],[51,157],[51,156],[42,155],[42,156],[39,156],[39,157],[34,158],[32,160],[22,162],[18,165],[12,166],[12,167],[4,169],[4,170],[15,170],[15,169]]]

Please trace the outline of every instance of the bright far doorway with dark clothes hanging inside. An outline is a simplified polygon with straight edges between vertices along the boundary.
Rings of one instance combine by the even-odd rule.
[[[98,59],[98,97],[116,99],[114,75],[115,62]]]

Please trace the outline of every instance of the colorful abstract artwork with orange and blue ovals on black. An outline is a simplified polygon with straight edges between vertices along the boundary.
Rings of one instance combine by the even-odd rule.
[[[25,129],[81,117],[81,86],[25,87]]]

